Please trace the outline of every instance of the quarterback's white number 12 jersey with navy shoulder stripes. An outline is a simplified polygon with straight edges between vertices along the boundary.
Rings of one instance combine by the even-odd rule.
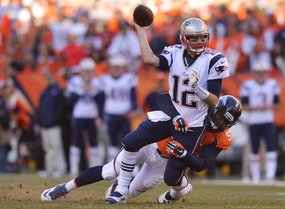
[[[189,70],[196,68],[200,73],[199,84],[207,89],[207,81],[229,77],[227,58],[218,51],[207,49],[196,61],[187,63],[185,49],[182,45],[165,47],[161,53],[168,60],[169,94],[176,110],[187,121],[189,126],[198,127],[207,125],[212,108],[201,100],[189,85]]]

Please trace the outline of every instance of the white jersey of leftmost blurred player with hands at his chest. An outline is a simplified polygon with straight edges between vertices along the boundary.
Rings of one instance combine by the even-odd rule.
[[[66,91],[80,96],[73,107],[72,116],[74,118],[97,118],[99,116],[98,106],[94,97],[100,93],[100,83],[96,78],[92,78],[90,82],[92,91],[88,92],[82,89],[84,81],[80,75],[76,75],[68,80]]]

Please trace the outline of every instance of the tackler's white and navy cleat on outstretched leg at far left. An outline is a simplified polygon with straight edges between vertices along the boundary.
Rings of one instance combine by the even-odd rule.
[[[68,193],[69,192],[66,191],[65,184],[59,184],[54,188],[43,191],[43,193],[41,194],[41,199],[43,201],[53,201],[62,196],[66,198],[65,195]]]

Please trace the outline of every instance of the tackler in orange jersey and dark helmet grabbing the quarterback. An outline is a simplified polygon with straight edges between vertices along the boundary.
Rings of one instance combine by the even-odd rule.
[[[175,109],[167,106],[166,100],[171,99],[168,93],[163,93],[158,96],[158,102],[163,112],[167,114],[175,114]],[[164,101],[162,103],[162,101]],[[174,106],[173,106],[174,108]],[[208,124],[207,132],[194,156],[189,154],[183,146],[171,139],[166,138],[160,142],[149,144],[140,149],[136,159],[136,165],[143,164],[142,169],[136,177],[132,177],[132,182],[129,187],[131,197],[146,192],[149,189],[155,188],[163,181],[163,175],[167,159],[175,157],[177,159],[174,166],[186,170],[187,166],[194,171],[201,172],[213,162],[221,150],[227,150],[232,144],[232,136],[229,127],[236,124],[241,115],[242,107],[240,102],[232,96],[224,96],[219,99],[217,106],[211,113],[210,123]],[[191,131],[191,130],[189,130]],[[43,201],[53,201],[61,196],[65,196],[71,190],[92,184],[101,180],[113,180],[116,178],[112,186],[108,189],[106,196],[114,192],[118,184],[118,176],[122,166],[122,150],[117,156],[104,166],[95,166],[84,171],[78,177],[70,182],[59,184],[54,188],[45,190],[41,194]],[[186,167],[181,167],[183,162]],[[181,176],[181,185],[171,186],[171,189],[157,198],[159,203],[174,203],[183,196],[192,191],[192,186],[189,184],[185,174]],[[123,198],[123,197],[122,197]],[[123,202],[123,201],[121,201]]]

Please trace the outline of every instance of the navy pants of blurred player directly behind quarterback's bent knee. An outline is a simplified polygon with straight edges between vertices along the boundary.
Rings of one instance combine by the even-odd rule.
[[[112,146],[118,145],[117,134],[122,131],[123,138],[131,132],[130,122],[124,120],[121,115],[107,115],[108,130]]]

